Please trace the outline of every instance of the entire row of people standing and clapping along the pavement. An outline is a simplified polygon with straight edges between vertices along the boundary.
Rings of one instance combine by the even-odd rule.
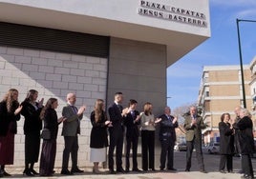
[[[62,109],[62,116],[57,117],[55,109],[58,107],[56,98],[50,98],[43,106],[44,99],[37,101],[38,91],[29,90],[25,100],[19,104],[18,90],[10,89],[0,102],[0,177],[10,176],[5,169],[6,165],[13,164],[14,134],[17,132],[17,121],[20,115],[25,118],[25,169],[23,174],[33,176],[52,176],[54,173],[54,160],[56,154],[56,138],[58,125],[63,123],[62,135],[65,148],[61,174],[71,175],[75,172],[83,172],[77,166],[78,138],[80,133],[80,120],[86,109],[85,106],[75,107],[75,93],[67,94],[67,106]],[[166,107],[164,113],[155,117],[153,106],[147,102],[143,111],[137,110],[138,102],[135,99],[129,101],[128,107],[121,106],[123,95],[117,92],[114,103],[105,111],[102,99],[97,99],[95,109],[91,112],[90,119],[93,126],[90,136],[90,161],[94,163],[93,172],[100,173],[98,165],[106,161],[108,149],[108,167],[110,173],[141,171],[138,167],[138,142],[141,133],[141,169],[144,171],[155,170],[155,130],[160,128],[160,170],[177,170],[174,168],[174,145],[176,142],[175,129],[178,128],[178,118],[171,115],[171,109]],[[251,115],[247,109],[235,109],[237,118],[230,120],[230,114],[224,113],[219,123],[221,160],[220,172],[233,172],[232,157],[235,152],[242,155],[242,178],[253,178],[251,153],[254,150]],[[109,116],[109,117],[108,117]],[[202,129],[206,128],[203,118],[197,112],[196,107],[191,107],[184,115],[185,139],[187,145],[185,171],[190,171],[193,149],[200,171],[206,173],[203,164]],[[42,125],[43,123],[43,125]],[[51,137],[43,139],[40,157],[39,173],[33,167],[38,162],[40,149],[41,129],[48,129]],[[124,132],[124,130],[126,131]],[[140,131],[139,131],[140,130]],[[109,132],[109,141],[108,141]],[[122,148],[124,133],[126,134],[125,169],[122,168]],[[116,170],[114,167],[114,151],[116,149]],[[130,152],[132,149],[132,163],[130,165]],[[69,158],[72,158],[72,167],[69,170]],[[166,163],[167,159],[167,163]]]

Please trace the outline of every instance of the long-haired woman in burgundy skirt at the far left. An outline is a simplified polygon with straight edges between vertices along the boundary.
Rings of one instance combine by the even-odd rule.
[[[9,89],[0,102],[0,176],[10,176],[5,165],[13,164],[14,135],[17,133],[17,121],[22,106],[18,103],[18,90]]]

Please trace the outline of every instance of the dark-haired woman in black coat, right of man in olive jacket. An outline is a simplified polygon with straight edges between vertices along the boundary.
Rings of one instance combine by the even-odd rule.
[[[234,129],[229,123],[230,114],[224,113],[219,123],[221,138],[221,161],[220,172],[224,173],[226,165],[227,172],[233,172],[233,153],[234,153]]]

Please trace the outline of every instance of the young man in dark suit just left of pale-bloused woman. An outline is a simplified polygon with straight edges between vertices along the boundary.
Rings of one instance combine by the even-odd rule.
[[[140,171],[137,162],[137,149],[139,141],[139,111],[136,110],[138,102],[130,99],[127,114],[124,116],[124,126],[126,126],[126,160],[125,171],[129,172],[130,168],[130,149],[133,147],[133,171]]]

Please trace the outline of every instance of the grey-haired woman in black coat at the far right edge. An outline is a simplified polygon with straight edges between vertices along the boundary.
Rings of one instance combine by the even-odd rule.
[[[251,114],[247,109],[241,109],[239,115],[241,120],[234,128],[240,130],[238,140],[242,154],[242,170],[245,173],[242,178],[254,178],[251,163],[251,154],[254,152]]]

